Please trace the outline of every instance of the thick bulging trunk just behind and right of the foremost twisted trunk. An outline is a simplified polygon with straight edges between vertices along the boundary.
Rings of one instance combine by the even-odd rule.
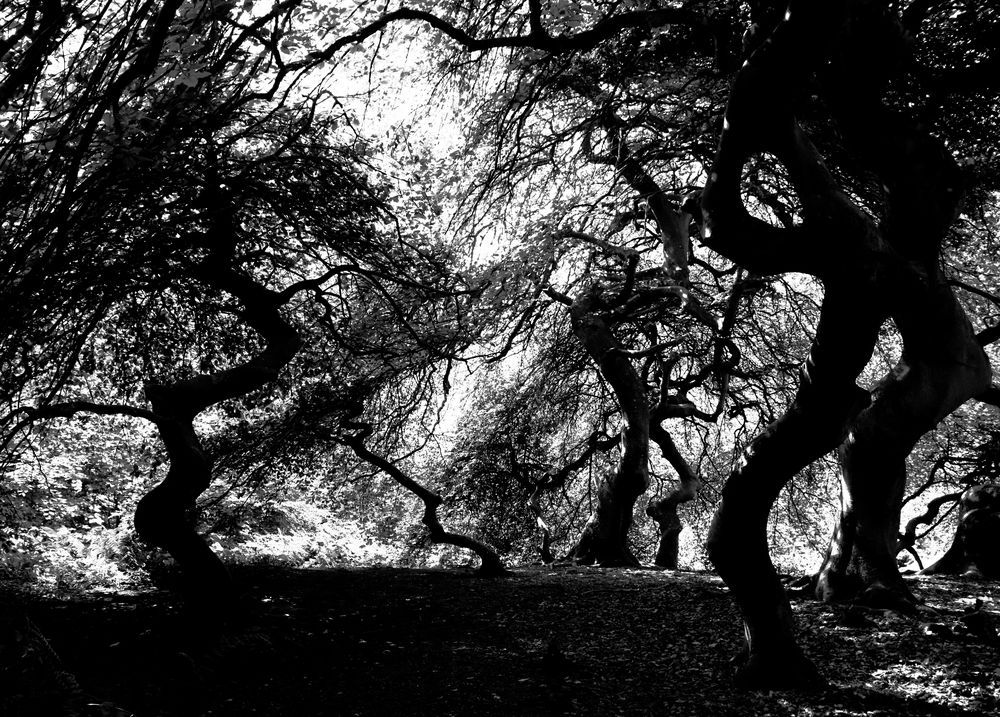
[[[904,348],[840,449],[841,517],[817,594],[909,610],[915,600],[895,561],[906,456],[924,433],[989,387],[991,369],[940,269],[941,242],[961,199],[958,167],[919,122],[881,101],[908,52],[906,35],[879,3],[852,3],[847,27],[822,80],[849,146],[882,181],[879,232],[904,271],[881,283]]]

